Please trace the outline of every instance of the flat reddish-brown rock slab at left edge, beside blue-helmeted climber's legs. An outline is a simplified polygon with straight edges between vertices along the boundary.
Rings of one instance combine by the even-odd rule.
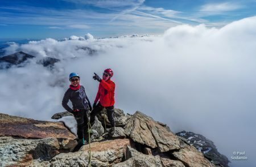
[[[37,121],[0,113],[0,136],[26,139],[76,139],[62,122]]]

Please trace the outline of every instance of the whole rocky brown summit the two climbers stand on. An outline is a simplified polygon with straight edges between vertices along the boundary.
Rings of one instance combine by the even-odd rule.
[[[52,118],[70,116],[62,112]],[[115,109],[114,117],[113,132],[105,112],[99,114],[91,142],[77,148],[76,135],[65,122],[0,114],[0,166],[222,166],[141,112],[125,115]]]

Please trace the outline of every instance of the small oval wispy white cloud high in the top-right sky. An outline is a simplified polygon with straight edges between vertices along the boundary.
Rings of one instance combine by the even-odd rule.
[[[209,3],[203,5],[200,9],[201,12],[209,12],[212,14],[220,14],[222,12],[234,11],[242,8],[241,5],[237,3],[224,2],[224,3]]]

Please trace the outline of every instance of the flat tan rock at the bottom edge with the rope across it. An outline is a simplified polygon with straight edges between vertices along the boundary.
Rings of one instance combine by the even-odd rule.
[[[126,147],[133,147],[129,139],[105,140],[90,144],[92,166],[112,166],[121,162]],[[51,166],[88,166],[89,144],[83,145],[78,152],[61,153],[51,160]]]

